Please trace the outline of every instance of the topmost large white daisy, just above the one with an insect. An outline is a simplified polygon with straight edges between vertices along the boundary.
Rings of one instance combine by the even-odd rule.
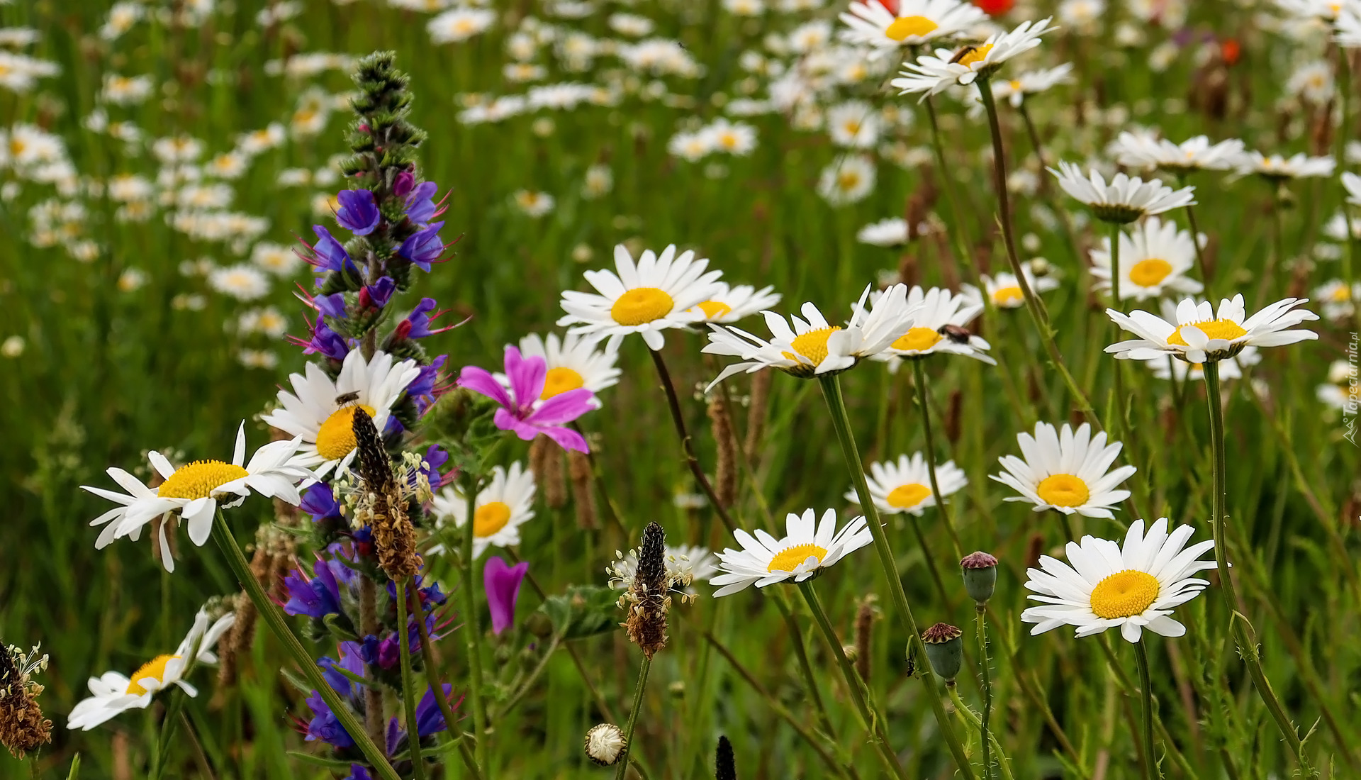
[[[840,38],[874,46],[874,56],[955,35],[988,18],[977,5],[960,0],[901,0],[897,12],[879,0],[852,0],[848,11],[841,14],[847,29]]]

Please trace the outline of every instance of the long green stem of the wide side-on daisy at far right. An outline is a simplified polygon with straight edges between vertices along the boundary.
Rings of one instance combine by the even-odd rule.
[[[1239,655],[1248,664],[1248,675],[1252,677],[1252,686],[1256,689],[1258,697],[1267,705],[1267,711],[1271,712],[1281,736],[1290,746],[1290,751],[1294,754],[1300,768],[1305,775],[1311,775],[1313,769],[1304,755],[1304,742],[1301,742],[1300,735],[1296,732],[1294,724],[1290,723],[1290,716],[1286,715],[1281,700],[1271,690],[1271,682],[1267,681],[1266,672],[1262,671],[1256,633],[1252,630],[1252,623],[1248,622],[1247,615],[1239,611],[1239,595],[1234,591],[1233,577],[1229,573],[1226,549],[1229,542],[1224,530],[1224,500],[1228,490],[1225,485],[1228,474],[1224,455],[1224,404],[1219,399],[1219,363],[1215,361],[1204,362],[1204,393],[1210,404],[1210,449],[1214,460],[1211,470],[1214,474],[1214,495],[1210,512],[1210,521],[1214,528],[1214,564],[1219,573],[1219,594],[1224,595],[1224,606],[1229,611],[1229,630],[1233,633],[1234,643],[1239,647]]]

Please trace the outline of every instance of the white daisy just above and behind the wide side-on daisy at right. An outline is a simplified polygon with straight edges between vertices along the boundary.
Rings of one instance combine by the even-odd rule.
[[[1194,295],[1203,285],[1185,274],[1195,265],[1190,230],[1150,216],[1130,233],[1120,231],[1120,298],[1158,298],[1169,293]],[[1111,237],[1092,249],[1092,275],[1097,289],[1111,289]]]

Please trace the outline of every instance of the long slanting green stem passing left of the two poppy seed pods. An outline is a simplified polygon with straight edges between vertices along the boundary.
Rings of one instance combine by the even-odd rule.
[[[864,466],[860,463],[860,452],[856,449],[855,437],[851,434],[851,415],[847,414],[845,397],[841,395],[841,381],[836,374],[823,376],[818,381],[822,385],[822,396],[827,402],[827,408],[832,411],[832,426],[837,430],[837,440],[841,442],[841,456],[845,459],[847,470],[855,482],[856,497],[860,500],[860,508],[864,509],[870,535],[874,536],[874,549],[879,554],[879,566],[889,580],[889,594],[893,598],[893,606],[898,613],[898,619],[902,622],[902,629],[908,633],[908,647],[909,649],[915,649],[919,657],[925,657],[921,632],[917,629],[917,621],[912,617],[912,607],[908,606],[908,595],[904,592],[902,580],[898,577],[897,559],[893,557],[893,549],[889,546],[889,536],[883,532],[883,523],[879,520],[879,510],[874,505],[874,497],[870,495],[870,485],[864,479]],[[927,689],[927,701],[931,704],[932,713],[935,713],[936,724],[940,727],[940,732],[950,746],[955,766],[960,768],[960,776],[965,780],[974,780],[973,766],[969,765],[969,755],[964,751],[960,735],[954,732],[954,726],[950,723],[949,715],[946,715],[945,704],[940,702],[940,692],[936,689],[931,664],[920,664],[917,672],[921,685]]]

